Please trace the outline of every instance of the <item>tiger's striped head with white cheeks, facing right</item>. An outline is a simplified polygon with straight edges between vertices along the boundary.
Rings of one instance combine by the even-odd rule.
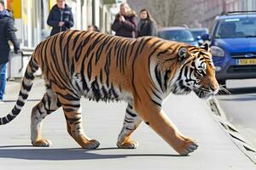
[[[182,63],[172,79],[173,94],[194,91],[202,99],[218,94],[218,82],[208,44],[201,48],[182,47],[177,52],[177,62]]]

